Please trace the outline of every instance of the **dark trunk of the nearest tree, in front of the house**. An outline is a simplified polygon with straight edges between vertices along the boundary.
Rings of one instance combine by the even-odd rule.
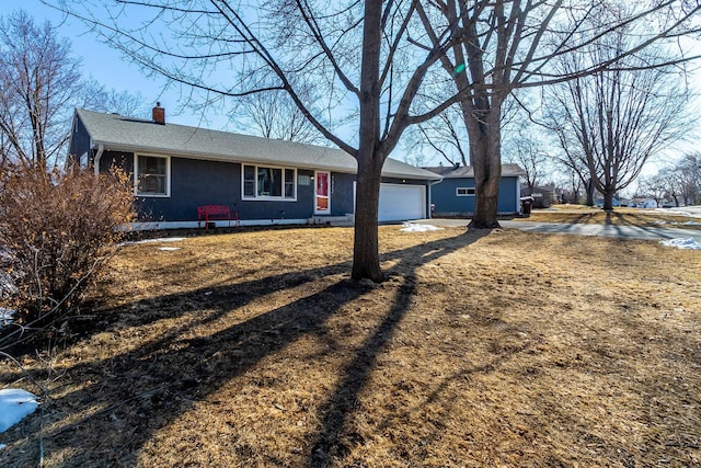
[[[353,279],[384,279],[378,249],[378,205],[382,164],[387,155],[380,149],[380,45],[382,2],[366,1],[363,25],[363,62],[360,73],[360,141],[358,144],[358,182],[355,204]]]

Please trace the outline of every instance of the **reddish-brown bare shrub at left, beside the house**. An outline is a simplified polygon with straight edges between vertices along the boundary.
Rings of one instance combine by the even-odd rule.
[[[0,172],[0,300],[14,322],[43,328],[78,305],[133,218],[131,184],[116,169]]]

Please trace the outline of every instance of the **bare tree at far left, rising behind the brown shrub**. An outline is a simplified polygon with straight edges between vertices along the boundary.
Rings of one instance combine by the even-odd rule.
[[[50,23],[26,12],[0,20],[0,133],[3,159],[46,171],[68,138],[80,62]]]

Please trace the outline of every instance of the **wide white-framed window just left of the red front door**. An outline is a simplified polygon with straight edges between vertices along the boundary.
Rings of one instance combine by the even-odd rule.
[[[296,170],[243,165],[243,198],[289,199],[297,197]]]

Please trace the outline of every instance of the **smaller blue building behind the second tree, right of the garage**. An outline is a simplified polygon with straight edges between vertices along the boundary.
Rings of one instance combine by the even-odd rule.
[[[443,182],[430,186],[433,216],[471,216],[475,208],[474,170],[472,167],[438,165],[424,168],[443,178]],[[502,165],[497,213],[515,215],[520,213],[520,176],[526,172],[517,164]]]

